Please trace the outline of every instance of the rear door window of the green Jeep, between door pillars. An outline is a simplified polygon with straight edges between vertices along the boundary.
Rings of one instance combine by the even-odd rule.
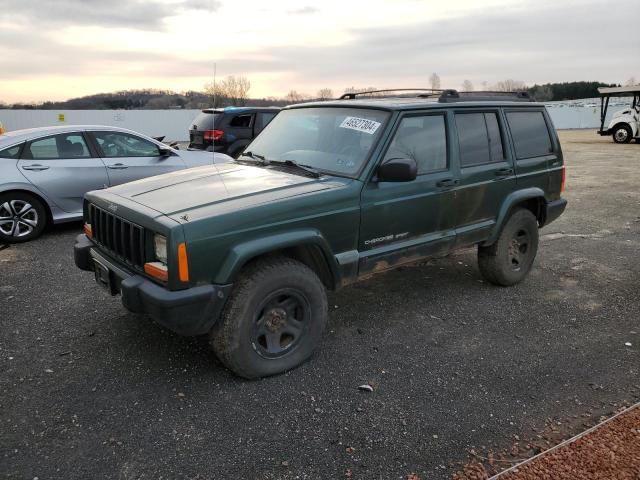
[[[502,135],[495,112],[457,113],[456,129],[461,166],[504,160]]]

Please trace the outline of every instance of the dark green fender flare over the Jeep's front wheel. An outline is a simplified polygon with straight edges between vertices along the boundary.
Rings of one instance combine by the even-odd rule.
[[[292,230],[249,240],[235,245],[227,254],[222,267],[216,273],[214,283],[233,282],[240,269],[253,258],[270,252],[300,246],[320,248],[334,283],[339,283],[338,262],[329,248],[329,243],[316,229]]]

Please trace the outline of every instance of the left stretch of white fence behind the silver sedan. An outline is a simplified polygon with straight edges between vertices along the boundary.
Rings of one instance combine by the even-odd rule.
[[[189,128],[200,110],[0,110],[7,131],[51,125],[109,125],[150,137],[189,140]]]

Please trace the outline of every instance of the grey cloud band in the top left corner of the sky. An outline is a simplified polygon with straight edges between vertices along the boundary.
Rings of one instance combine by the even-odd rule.
[[[163,27],[166,18],[188,10],[212,10],[217,0],[0,0],[0,20],[35,28],[83,25],[151,30]]]

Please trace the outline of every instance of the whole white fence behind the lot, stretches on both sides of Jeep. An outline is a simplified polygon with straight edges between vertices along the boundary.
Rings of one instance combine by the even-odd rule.
[[[600,126],[599,105],[555,102],[547,107],[558,129]],[[610,106],[606,123],[623,108]],[[111,125],[182,142],[189,139],[189,128],[198,113],[199,110],[0,110],[0,123],[7,131],[50,125]]]

